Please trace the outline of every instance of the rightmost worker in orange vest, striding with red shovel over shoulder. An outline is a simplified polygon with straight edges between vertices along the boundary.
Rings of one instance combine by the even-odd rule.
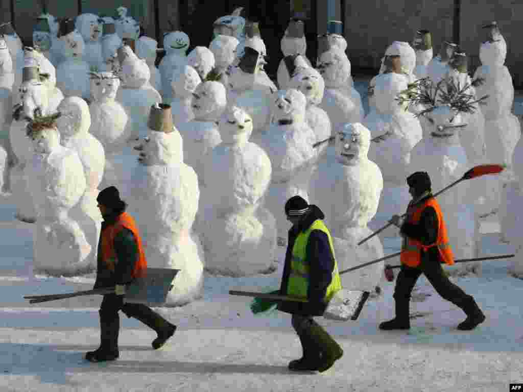
[[[419,275],[425,274],[436,292],[447,301],[460,307],[467,319],[458,325],[459,330],[471,330],[485,320],[485,315],[474,298],[453,284],[441,262],[454,263],[447,236],[447,228],[438,202],[430,190],[430,177],[426,171],[416,171],[407,177],[412,201],[407,208],[405,221],[394,215],[391,222],[400,227],[403,235],[401,270],[394,289],[396,317],[380,324],[380,329],[409,329],[409,302]]]

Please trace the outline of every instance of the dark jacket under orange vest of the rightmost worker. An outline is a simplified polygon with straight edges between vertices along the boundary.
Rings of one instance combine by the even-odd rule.
[[[433,196],[429,194],[426,198],[420,200],[420,203],[431,197]],[[405,222],[401,225],[400,232],[407,237],[417,239],[423,245],[431,245],[438,239],[438,227],[439,221],[436,210],[428,206],[423,210],[417,224]],[[422,250],[422,261],[441,262],[438,248],[432,247],[427,252]]]

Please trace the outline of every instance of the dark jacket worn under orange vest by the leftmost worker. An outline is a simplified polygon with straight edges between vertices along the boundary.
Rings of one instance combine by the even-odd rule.
[[[115,265],[114,272],[107,268],[102,259],[101,252],[101,237],[104,229],[109,225],[115,224],[118,216],[124,211],[125,207],[112,215],[104,216],[104,222],[101,224],[100,239],[98,240],[95,289],[98,289],[98,287],[114,286],[116,284],[126,284],[133,280],[132,270],[134,269],[134,264],[138,261],[138,245],[131,230],[123,228],[115,237],[113,246],[115,247],[118,262]]]

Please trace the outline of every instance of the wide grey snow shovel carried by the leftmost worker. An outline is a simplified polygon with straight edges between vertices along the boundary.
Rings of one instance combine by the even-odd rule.
[[[165,304],[167,293],[173,288],[173,280],[180,270],[171,268],[147,268],[145,276],[135,279],[126,285],[124,302],[138,303],[148,306]],[[100,287],[99,289],[76,291],[64,294],[26,295],[30,304],[56,301],[84,295],[105,295],[115,292],[115,287]]]

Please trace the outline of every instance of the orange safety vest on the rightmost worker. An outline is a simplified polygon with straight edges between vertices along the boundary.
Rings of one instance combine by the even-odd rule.
[[[408,267],[417,267],[421,262],[421,251],[427,251],[428,248],[437,246],[441,258],[447,264],[449,264],[449,266],[452,266],[452,264],[454,264],[454,256],[452,255],[452,249],[450,248],[449,244],[447,227],[445,226],[443,214],[441,213],[441,209],[435,198],[430,197],[424,203],[409,207],[409,210],[407,210],[407,223],[417,224],[420,217],[422,216],[422,212],[427,207],[433,207],[433,209],[436,211],[436,215],[438,216],[438,238],[434,244],[423,245],[417,239],[405,236],[403,238],[403,244],[401,247],[401,263]]]

